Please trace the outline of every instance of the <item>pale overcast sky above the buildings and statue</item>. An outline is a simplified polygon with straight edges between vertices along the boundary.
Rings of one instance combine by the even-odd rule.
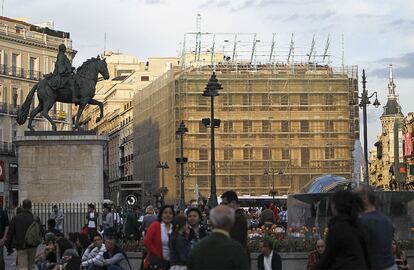
[[[70,32],[75,65],[103,51],[105,32],[107,50],[141,60],[176,56],[184,33],[196,30],[197,13],[203,32],[253,32],[264,40],[276,33],[280,47],[294,33],[296,46],[310,47],[315,34],[323,48],[330,34],[333,65],[341,63],[343,34],[345,64],[366,69],[368,89],[385,105],[392,63],[403,112],[414,111],[413,0],[4,0],[3,10],[29,23],[52,20],[55,29]],[[368,110],[370,146],[382,112]]]

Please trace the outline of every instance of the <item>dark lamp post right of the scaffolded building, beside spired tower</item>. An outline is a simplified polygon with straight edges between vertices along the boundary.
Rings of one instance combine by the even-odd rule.
[[[369,177],[368,177],[368,134],[367,134],[367,105],[371,104],[369,101],[375,95],[375,101],[372,105],[375,108],[378,108],[381,104],[378,101],[377,92],[374,92],[372,95],[368,94],[368,90],[366,89],[367,77],[365,76],[365,69],[362,70],[362,95],[358,96],[361,100],[359,102],[359,107],[362,108],[362,117],[364,121],[364,158],[365,158],[365,182],[369,185]]]

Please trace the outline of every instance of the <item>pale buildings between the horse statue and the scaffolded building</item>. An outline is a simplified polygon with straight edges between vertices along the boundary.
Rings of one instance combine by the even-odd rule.
[[[136,92],[141,91],[173,66],[178,65],[174,57],[153,57],[139,61],[133,56],[106,52],[110,80],[100,81],[95,98],[104,103],[104,118],[99,116],[97,106],[88,106],[83,113],[83,128],[96,130],[97,134],[108,134],[104,165],[105,197],[123,203],[128,195],[138,196],[139,180],[133,178],[133,103]]]

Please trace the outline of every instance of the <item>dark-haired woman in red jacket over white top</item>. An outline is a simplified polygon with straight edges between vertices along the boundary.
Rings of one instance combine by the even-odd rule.
[[[168,269],[170,249],[168,246],[175,217],[174,207],[164,205],[158,213],[158,221],[154,221],[145,235],[144,245],[148,250],[144,259],[144,268]],[[153,269],[154,269],[153,268]]]

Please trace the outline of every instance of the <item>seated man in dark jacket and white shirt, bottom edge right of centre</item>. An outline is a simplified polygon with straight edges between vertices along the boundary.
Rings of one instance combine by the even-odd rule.
[[[258,270],[282,270],[282,259],[273,250],[272,242],[269,239],[260,241],[260,252],[261,254],[257,257]]]

